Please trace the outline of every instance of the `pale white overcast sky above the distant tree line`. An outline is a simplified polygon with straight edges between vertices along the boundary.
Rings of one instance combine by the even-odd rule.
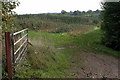
[[[100,0],[19,0],[17,14],[60,13],[61,10],[87,11],[101,9]]]

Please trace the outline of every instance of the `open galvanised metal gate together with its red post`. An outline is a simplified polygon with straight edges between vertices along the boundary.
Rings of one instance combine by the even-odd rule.
[[[25,53],[27,53],[28,29],[23,29],[13,34],[10,34],[10,32],[5,32],[5,46],[8,78],[12,78],[12,66],[19,63]]]

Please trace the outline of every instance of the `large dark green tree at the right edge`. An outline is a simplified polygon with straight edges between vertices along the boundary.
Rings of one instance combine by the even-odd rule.
[[[101,29],[104,33],[102,43],[120,50],[120,2],[105,2],[102,8]]]

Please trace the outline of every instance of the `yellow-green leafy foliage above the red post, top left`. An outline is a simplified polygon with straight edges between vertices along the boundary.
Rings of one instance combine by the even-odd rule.
[[[16,13],[13,11],[19,5],[18,1],[7,0],[2,2],[2,31],[11,31],[14,27],[13,19]]]

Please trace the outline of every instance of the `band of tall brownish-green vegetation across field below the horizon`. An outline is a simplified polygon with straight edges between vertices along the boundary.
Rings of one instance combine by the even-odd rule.
[[[87,25],[97,25],[99,15],[90,17],[86,16],[86,14],[79,16],[69,14],[27,14],[18,15],[15,23],[17,28],[28,27],[39,31],[46,29],[47,32],[69,32]]]

